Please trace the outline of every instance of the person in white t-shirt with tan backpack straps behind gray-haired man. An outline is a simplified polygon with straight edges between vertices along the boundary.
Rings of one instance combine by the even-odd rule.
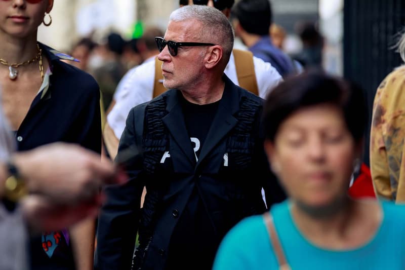
[[[180,0],[179,5],[207,5],[220,10],[227,18],[230,16],[234,0]],[[118,141],[125,128],[125,121],[132,107],[150,101],[166,91],[161,75],[161,62],[158,59],[142,64],[121,81],[119,96],[114,96],[107,123],[103,131],[104,142],[109,155],[114,158]],[[248,51],[233,50],[225,74],[236,85],[264,98],[281,81],[281,75],[270,64],[254,57]]]

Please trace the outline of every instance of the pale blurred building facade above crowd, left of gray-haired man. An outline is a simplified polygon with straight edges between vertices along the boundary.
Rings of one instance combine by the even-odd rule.
[[[110,31],[130,38],[134,25],[166,28],[177,0],[58,0],[51,12],[52,25],[41,25],[38,40],[69,51],[80,38],[92,35],[100,42]]]

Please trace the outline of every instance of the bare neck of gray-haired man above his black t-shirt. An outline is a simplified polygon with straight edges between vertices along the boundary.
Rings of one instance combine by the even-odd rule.
[[[224,89],[225,82],[220,76],[215,80],[203,80],[202,84],[191,86],[187,90],[181,90],[181,93],[188,102],[205,105],[220,100]]]

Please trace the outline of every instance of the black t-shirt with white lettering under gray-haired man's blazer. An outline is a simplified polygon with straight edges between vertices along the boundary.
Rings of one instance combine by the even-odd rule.
[[[198,105],[181,98],[184,121],[191,146],[198,158],[218,110],[219,101]],[[218,243],[207,209],[197,187],[179,217],[170,239],[166,269],[179,269],[179,262],[189,269],[211,269]]]

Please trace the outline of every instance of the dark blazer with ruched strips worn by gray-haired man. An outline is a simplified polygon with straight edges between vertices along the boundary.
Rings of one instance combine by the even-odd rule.
[[[218,243],[240,219],[265,211],[262,187],[266,192],[267,207],[285,199],[284,192],[270,173],[263,150],[260,125],[263,100],[234,85],[226,76],[224,81],[225,90],[197,162],[184,123],[179,99],[181,92],[169,90],[151,101],[166,100],[166,115],[162,121],[169,133],[167,150],[170,158],[163,164],[158,163],[158,174],[145,177],[142,159],[139,157],[128,171],[130,181],[124,186],[107,189],[108,201],[99,217],[95,261],[97,269],[130,269],[141,216],[139,205],[142,189],[144,185],[148,192],[149,188],[153,189],[153,185],[148,187],[150,181],[164,182],[167,187],[160,204],[161,211],[153,227],[145,269],[165,267],[170,237],[194,187],[198,188],[200,198],[213,220],[216,231],[213,241]],[[249,101],[257,108],[253,113],[252,126],[245,127],[252,137],[248,144],[244,144],[244,138],[241,138],[240,144],[234,145],[233,149],[244,153],[249,147],[249,165],[245,168],[238,167],[231,160],[233,156],[229,155],[225,166],[224,155],[228,151],[228,139],[235,129],[240,128],[238,115],[241,115],[241,119],[245,110],[251,109],[249,106],[241,108],[240,105],[244,104],[242,101]],[[150,102],[138,105],[130,111],[117,157],[133,144],[139,147],[142,145],[145,108],[148,104]],[[244,145],[247,145],[246,148],[241,147]],[[181,262],[179,263],[180,267]]]

